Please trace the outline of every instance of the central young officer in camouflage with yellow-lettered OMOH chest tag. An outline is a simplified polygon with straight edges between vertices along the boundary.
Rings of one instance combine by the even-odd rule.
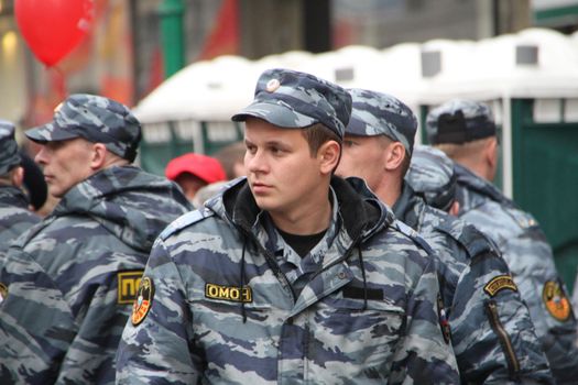
[[[454,384],[430,258],[362,180],[332,177],[351,99],[265,70],[247,178],[153,246],[118,355],[130,383]]]

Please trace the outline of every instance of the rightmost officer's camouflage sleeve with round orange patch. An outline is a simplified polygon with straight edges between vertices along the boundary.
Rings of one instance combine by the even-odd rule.
[[[578,378],[578,326],[570,299],[539,228],[509,239],[503,255],[530,309],[536,334],[558,384]]]

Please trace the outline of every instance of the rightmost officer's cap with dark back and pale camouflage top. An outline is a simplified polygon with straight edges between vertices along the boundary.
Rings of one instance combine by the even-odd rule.
[[[426,121],[427,139],[432,144],[462,144],[495,135],[492,111],[473,100],[450,100],[432,110]]]

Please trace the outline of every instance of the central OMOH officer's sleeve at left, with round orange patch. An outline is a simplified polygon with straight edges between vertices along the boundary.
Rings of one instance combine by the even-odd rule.
[[[197,384],[203,360],[192,342],[186,289],[161,239],[138,296],[117,353],[117,384]]]

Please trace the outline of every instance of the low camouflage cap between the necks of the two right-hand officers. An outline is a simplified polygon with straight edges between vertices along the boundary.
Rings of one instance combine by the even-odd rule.
[[[454,162],[437,148],[416,145],[405,180],[436,209],[447,212],[456,199]]]

